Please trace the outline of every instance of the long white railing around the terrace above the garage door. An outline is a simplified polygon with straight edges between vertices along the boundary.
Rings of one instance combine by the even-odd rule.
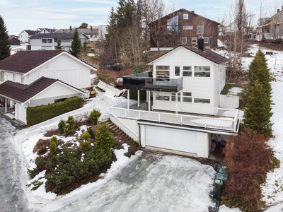
[[[185,114],[172,114],[166,112],[152,112],[145,110],[131,110],[119,107],[112,107],[112,114],[120,118],[146,120],[152,122],[164,122],[169,124],[180,124],[186,126],[198,126],[209,129],[220,129],[236,132],[238,122],[238,110],[226,110],[216,108],[225,117],[203,117]],[[234,114],[231,117],[231,114]]]

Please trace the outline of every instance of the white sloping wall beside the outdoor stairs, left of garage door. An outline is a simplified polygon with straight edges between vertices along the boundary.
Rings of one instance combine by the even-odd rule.
[[[134,139],[134,141],[139,141],[139,126],[137,124],[137,120],[122,119],[122,118],[119,118],[119,119],[120,119],[120,122],[115,117],[110,117],[111,122],[116,124],[120,129],[122,129],[122,131],[125,131],[125,134],[127,134],[129,137]],[[133,134],[132,131],[130,131],[125,125],[129,129],[132,129],[132,131],[134,131],[134,133],[137,135]]]

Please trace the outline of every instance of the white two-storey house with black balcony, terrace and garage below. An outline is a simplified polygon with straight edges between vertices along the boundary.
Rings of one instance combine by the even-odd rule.
[[[220,94],[227,61],[203,40],[198,48],[176,47],[149,63],[152,72],[123,77],[123,88],[138,90],[138,99],[146,90],[149,109],[130,110],[128,101],[127,109],[112,108],[112,122],[143,147],[208,158],[212,137],[238,134],[240,124],[238,97]]]

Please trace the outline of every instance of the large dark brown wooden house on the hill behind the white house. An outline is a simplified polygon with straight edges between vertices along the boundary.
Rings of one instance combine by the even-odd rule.
[[[204,46],[216,47],[220,23],[181,8],[149,23],[151,47],[197,45],[200,37]]]

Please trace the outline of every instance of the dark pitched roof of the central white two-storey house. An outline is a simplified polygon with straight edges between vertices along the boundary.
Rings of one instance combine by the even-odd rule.
[[[209,49],[204,49],[204,51],[202,51],[200,49],[197,49],[197,47],[192,47],[192,46],[179,46],[179,47],[184,47],[185,49],[188,49],[191,52],[194,52],[195,54],[198,54],[201,57],[204,57],[205,59],[208,59],[208,60],[214,62],[215,64],[222,64],[222,63],[225,63],[225,62],[229,61],[229,59],[227,59],[226,57],[223,57],[220,54],[217,54],[216,52],[212,52],[212,50],[209,50]],[[178,47],[175,47],[174,49],[177,49],[177,48]],[[171,51],[167,52],[166,54],[169,54],[174,49],[172,49]],[[158,59],[160,57],[163,57],[166,54],[162,54],[162,55],[156,57],[156,59]],[[155,61],[156,59],[153,59],[148,64],[150,64],[151,62]]]

